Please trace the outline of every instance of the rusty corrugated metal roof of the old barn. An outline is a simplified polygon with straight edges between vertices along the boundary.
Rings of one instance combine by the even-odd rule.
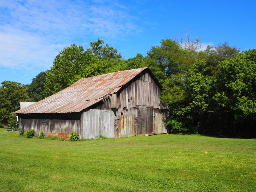
[[[31,104],[24,109],[20,109],[15,113],[81,112],[83,109],[102,100],[108,93],[117,92],[123,85],[146,69],[152,75],[148,67],[144,67],[80,79],[62,91]]]

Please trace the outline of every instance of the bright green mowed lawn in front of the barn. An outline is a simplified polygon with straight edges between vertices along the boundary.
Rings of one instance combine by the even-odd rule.
[[[0,191],[255,191],[256,140],[26,139],[0,129]]]

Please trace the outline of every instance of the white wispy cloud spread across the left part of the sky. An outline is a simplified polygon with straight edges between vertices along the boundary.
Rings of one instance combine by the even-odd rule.
[[[2,0],[0,66],[45,70],[71,43],[124,40],[142,31],[131,12],[119,1]]]

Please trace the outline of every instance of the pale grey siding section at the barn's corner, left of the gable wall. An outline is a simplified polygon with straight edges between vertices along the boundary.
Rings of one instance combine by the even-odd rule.
[[[83,113],[82,138],[97,139],[100,135],[114,138],[113,111],[90,109]]]

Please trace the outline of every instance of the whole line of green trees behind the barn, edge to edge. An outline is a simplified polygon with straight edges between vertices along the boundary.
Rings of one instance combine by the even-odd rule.
[[[7,126],[19,101],[39,101],[81,78],[149,67],[163,85],[170,133],[256,137],[256,49],[240,52],[228,43],[199,48],[200,39],[163,39],[145,56],[125,60],[103,40],[86,50],[72,44],[30,85],[1,83],[0,120]]]

